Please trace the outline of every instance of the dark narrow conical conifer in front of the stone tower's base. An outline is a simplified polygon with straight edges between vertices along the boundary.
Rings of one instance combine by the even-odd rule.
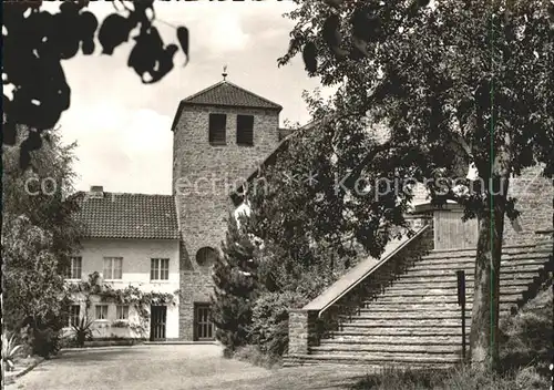
[[[244,219],[243,219],[244,220]],[[256,246],[252,243],[244,224],[229,216],[224,256],[216,259],[213,271],[212,320],[216,338],[230,356],[237,347],[249,341],[252,308],[258,296]]]

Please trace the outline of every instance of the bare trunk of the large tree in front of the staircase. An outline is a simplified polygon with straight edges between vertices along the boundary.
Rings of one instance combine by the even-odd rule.
[[[491,189],[488,197],[492,204],[479,219],[471,314],[470,356],[472,367],[478,370],[494,370],[499,360],[500,264],[507,178],[494,178]]]

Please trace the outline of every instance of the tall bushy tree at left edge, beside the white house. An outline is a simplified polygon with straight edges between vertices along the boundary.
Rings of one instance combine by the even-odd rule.
[[[28,130],[18,126],[17,142]],[[33,349],[44,356],[61,327],[65,302],[63,279],[69,256],[78,248],[80,226],[72,189],[74,145],[62,146],[55,131],[32,152],[32,170],[19,168],[19,150],[2,147],[2,309],[11,329],[30,326]]]

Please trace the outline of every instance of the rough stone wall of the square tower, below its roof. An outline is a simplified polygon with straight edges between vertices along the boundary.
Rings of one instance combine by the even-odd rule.
[[[209,114],[227,115],[226,145],[208,142]],[[254,115],[254,145],[236,143],[238,114]],[[179,337],[194,338],[194,304],[209,302],[212,266],[199,265],[203,247],[220,250],[227,218],[234,211],[229,194],[271,154],[279,143],[276,110],[185,106],[173,135],[173,194],[182,232]]]

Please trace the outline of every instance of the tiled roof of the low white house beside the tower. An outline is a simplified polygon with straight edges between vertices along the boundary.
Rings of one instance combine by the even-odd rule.
[[[179,238],[173,196],[103,194],[103,197],[75,194],[81,204],[75,217],[85,238]]]

